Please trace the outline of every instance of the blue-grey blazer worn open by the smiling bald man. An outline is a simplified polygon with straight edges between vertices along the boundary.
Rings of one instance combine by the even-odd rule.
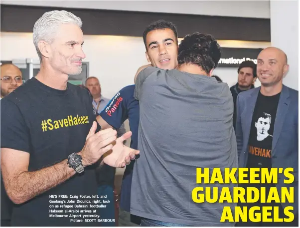
[[[260,87],[242,92],[237,97],[236,138],[238,147],[239,167],[246,167],[248,159],[248,142],[250,136],[252,115]],[[272,141],[272,167],[294,168],[295,180],[292,184],[285,184],[286,177],[278,174],[278,189],[281,195],[282,187],[294,187],[294,203],[282,203],[283,208],[294,207],[298,214],[298,91],[283,86],[273,132]]]

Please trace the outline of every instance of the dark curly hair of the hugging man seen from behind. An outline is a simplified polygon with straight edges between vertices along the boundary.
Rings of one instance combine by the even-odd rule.
[[[218,66],[220,58],[220,45],[211,35],[199,32],[186,35],[178,47],[178,65],[195,64],[207,74]]]

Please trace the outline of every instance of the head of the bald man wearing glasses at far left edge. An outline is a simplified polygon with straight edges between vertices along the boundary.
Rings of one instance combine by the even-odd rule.
[[[1,98],[11,93],[22,83],[20,69],[13,64],[1,65]]]

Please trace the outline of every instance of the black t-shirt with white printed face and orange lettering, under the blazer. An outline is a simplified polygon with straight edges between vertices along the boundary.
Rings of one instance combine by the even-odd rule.
[[[274,96],[264,96],[259,92],[254,108],[248,143],[249,168],[272,168],[272,141],[274,122],[280,93]],[[257,177],[259,179],[260,177]],[[247,186],[266,187],[267,193],[274,184],[249,184]]]

